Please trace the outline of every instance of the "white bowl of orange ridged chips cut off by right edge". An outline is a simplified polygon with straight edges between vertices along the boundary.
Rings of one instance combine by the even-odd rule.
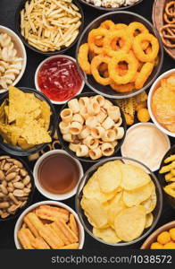
[[[153,83],[147,107],[154,124],[164,133],[175,137],[175,69],[160,75]]]

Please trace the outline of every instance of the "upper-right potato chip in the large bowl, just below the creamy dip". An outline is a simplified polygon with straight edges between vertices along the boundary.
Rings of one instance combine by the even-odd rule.
[[[150,182],[150,176],[143,170],[131,164],[121,165],[121,187],[125,190],[135,190]]]

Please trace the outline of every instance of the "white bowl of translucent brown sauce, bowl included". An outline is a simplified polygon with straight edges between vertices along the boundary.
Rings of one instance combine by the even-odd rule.
[[[83,169],[79,160],[63,150],[44,153],[33,170],[37,190],[51,200],[65,200],[76,194]]]

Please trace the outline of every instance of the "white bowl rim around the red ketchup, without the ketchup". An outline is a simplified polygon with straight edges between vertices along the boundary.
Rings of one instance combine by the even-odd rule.
[[[51,60],[51,59],[54,59],[54,58],[59,58],[59,57],[65,57],[65,58],[68,58],[68,59],[71,59],[75,64],[76,64],[76,59],[72,58],[71,56],[67,56],[67,55],[56,55],[56,56],[50,56],[50,57],[47,57],[43,62],[41,62],[38,66],[37,66],[37,70],[36,70],[36,73],[35,73],[35,87],[37,89],[37,91],[41,91],[39,86],[38,86],[38,83],[37,83],[37,74],[41,68],[42,65],[44,65],[47,61]],[[77,65],[77,64],[76,64]],[[79,72],[79,71],[78,71]],[[80,74],[79,74],[80,75]],[[79,89],[79,91],[76,93],[76,95],[78,95],[79,93],[81,93],[81,91],[83,90],[84,86],[85,86],[85,82],[83,81],[83,79],[81,78],[82,80],[82,84],[81,84],[81,87]],[[75,96],[76,96],[75,95]],[[71,97],[73,98],[73,97]],[[54,105],[63,105],[65,104],[68,100],[64,100],[64,101],[55,101],[55,100],[50,100]]]

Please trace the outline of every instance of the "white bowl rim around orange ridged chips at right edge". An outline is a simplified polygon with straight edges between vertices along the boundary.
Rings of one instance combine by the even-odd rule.
[[[148,94],[148,99],[147,99],[147,107],[148,107],[148,110],[149,110],[149,114],[150,114],[150,117],[152,118],[155,126],[157,126],[164,134],[168,134],[172,137],[175,137],[175,133],[171,133],[170,131],[168,131],[166,128],[164,128],[162,125],[159,124],[159,122],[156,120],[156,118],[154,117],[154,113],[152,111],[152,108],[151,108],[151,102],[152,102],[152,96],[154,94],[154,91],[160,87],[161,85],[161,80],[163,78],[167,78],[169,77],[171,74],[175,74],[175,69],[171,69],[165,73],[163,73],[162,75],[160,75],[156,81],[153,83],[150,91],[149,91],[149,94]]]

